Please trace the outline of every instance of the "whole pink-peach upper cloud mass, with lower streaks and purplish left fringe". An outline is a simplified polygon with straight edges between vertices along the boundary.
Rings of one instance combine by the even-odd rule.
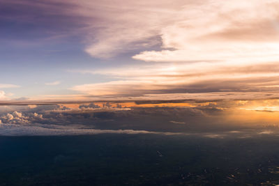
[[[73,34],[70,36],[79,36],[84,41],[84,50],[93,57],[110,58],[125,53],[123,56],[140,60],[134,63],[131,59],[130,65],[118,68],[80,70],[112,80],[71,87],[77,95],[42,95],[41,98],[73,100],[76,97],[75,100],[80,100],[106,96],[128,99],[151,94],[163,97],[170,93],[211,92],[236,95],[262,92],[262,98],[265,93],[279,90],[278,1],[50,0],[3,3],[19,10],[18,14],[8,14],[9,19],[18,20],[20,15],[26,15],[20,19],[26,23],[43,22],[34,17],[47,17],[47,26],[43,26],[57,30],[47,30],[53,33],[52,38],[63,37],[60,34],[67,35],[68,32]],[[29,9],[34,12],[29,13]],[[40,12],[43,16],[32,15],[40,15]],[[56,19],[50,19],[50,15],[55,15]],[[63,28],[69,28],[68,24],[70,29],[64,31]],[[171,96],[167,97],[171,99]]]

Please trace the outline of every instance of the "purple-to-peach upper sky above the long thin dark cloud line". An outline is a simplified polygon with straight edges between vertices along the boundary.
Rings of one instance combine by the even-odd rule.
[[[0,28],[0,100],[279,98],[279,1],[0,0]]]

